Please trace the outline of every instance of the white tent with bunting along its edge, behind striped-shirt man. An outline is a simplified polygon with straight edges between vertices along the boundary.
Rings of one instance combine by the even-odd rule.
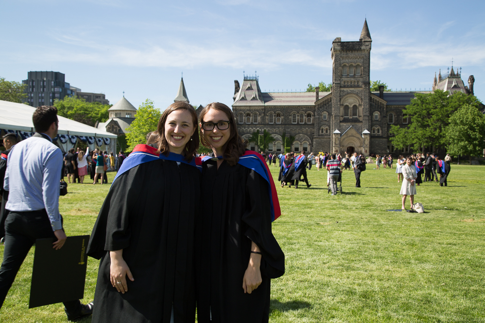
[[[32,123],[34,111],[35,108],[25,104],[0,100],[0,129],[16,132],[24,139],[32,136],[35,132]],[[90,149],[99,147],[108,152],[116,151],[116,135],[61,116],[58,119],[57,144],[65,152],[73,148],[78,139],[86,142]]]

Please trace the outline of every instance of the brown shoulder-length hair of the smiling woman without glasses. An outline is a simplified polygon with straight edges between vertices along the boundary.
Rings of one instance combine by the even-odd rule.
[[[185,148],[183,150],[183,155],[185,156],[185,160],[190,162],[192,157],[194,157],[195,152],[199,148],[199,133],[197,132],[197,114],[195,113],[195,109],[186,101],[178,101],[172,103],[168,108],[163,111],[160,120],[158,121],[158,153],[164,154],[168,156],[169,149],[168,149],[168,142],[167,138],[165,138],[165,122],[167,121],[167,117],[170,113],[176,110],[187,110],[189,111],[190,115],[192,116],[192,123],[194,123],[194,134],[191,137],[191,140],[187,142]]]

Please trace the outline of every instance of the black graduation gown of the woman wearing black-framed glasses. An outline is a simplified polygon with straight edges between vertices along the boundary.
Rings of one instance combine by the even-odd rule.
[[[271,231],[267,182],[254,170],[223,161],[204,163],[201,215],[195,234],[197,322],[268,322],[270,278],[285,271],[285,255]],[[251,241],[262,252],[259,287],[242,289]]]

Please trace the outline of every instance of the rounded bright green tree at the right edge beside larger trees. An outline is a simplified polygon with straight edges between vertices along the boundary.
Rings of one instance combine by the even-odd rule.
[[[454,156],[481,156],[485,149],[485,115],[469,104],[459,108],[450,117],[446,128],[446,151]]]

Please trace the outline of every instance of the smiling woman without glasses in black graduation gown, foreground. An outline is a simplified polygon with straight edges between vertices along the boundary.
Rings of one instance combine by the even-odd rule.
[[[196,129],[194,108],[176,102],[158,123],[159,149],[137,145],[123,161],[87,249],[101,259],[92,322],[195,321]]]

